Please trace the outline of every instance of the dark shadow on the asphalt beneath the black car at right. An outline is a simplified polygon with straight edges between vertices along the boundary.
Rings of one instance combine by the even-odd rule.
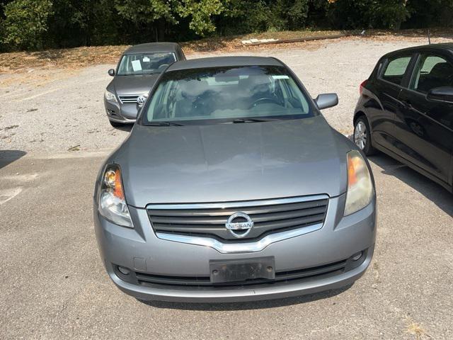
[[[382,174],[394,176],[403,181],[453,217],[453,194],[444,187],[386,154],[377,154],[369,157],[369,160],[384,169]]]

